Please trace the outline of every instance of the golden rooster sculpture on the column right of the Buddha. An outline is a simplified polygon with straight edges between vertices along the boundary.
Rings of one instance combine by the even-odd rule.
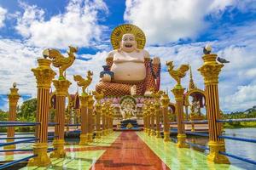
[[[181,79],[186,76],[186,71],[189,71],[189,65],[180,65],[176,71],[173,70],[173,61],[166,62],[166,65],[170,76],[177,82],[177,85],[181,85]]]

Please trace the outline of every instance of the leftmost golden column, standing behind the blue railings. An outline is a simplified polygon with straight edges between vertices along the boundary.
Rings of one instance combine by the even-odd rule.
[[[16,82],[13,84],[13,88],[9,88],[10,94],[8,95],[9,99],[9,121],[13,122],[16,121],[16,114],[17,114],[17,103],[20,99],[20,95],[18,94],[18,88],[16,88]],[[8,127],[7,128],[7,137],[13,138],[15,137],[15,127]],[[6,142],[13,142],[15,139],[7,139]],[[5,150],[15,150],[15,144],[4,146],[3,149]]]

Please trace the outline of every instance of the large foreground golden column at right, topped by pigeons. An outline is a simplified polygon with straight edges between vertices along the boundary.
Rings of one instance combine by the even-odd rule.
[[[207,156],[209,161],[215,163],[229,164],[230,161],[226,156],[220,155],[218,151],[224,151],[224,139],[219,139],[221,135],[221,123],[216,122],[220,119],[220,110],[218,102],[218,75],[223,64],[216,62],[217,54],[205,54],[202,56],[204,64],[198,71],[204,77],[206,102],[207,102],[207,119],[209,125],[209,148],[210,153]]]

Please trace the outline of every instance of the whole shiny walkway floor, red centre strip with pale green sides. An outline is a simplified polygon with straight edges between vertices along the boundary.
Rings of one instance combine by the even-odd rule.
[[[51,159],[49,167],[22,169],[239,169],[229,165],[207,162],[207,156],[191,149],[178,149],[172,142],[150,137],[143,132],[115,132],[95,139],[89,146],[66,145],[65,159]],[[0,155],[0,160],[20,159],[29,153],[15,156]]]

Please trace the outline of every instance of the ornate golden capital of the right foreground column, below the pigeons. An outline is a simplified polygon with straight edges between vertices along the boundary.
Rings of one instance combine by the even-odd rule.
[[[205,54],[202,56],[204,64],[198,69],[204,77],[205,84],[218,83],[218,75],[223,64],[216,61],[217,54]]]

